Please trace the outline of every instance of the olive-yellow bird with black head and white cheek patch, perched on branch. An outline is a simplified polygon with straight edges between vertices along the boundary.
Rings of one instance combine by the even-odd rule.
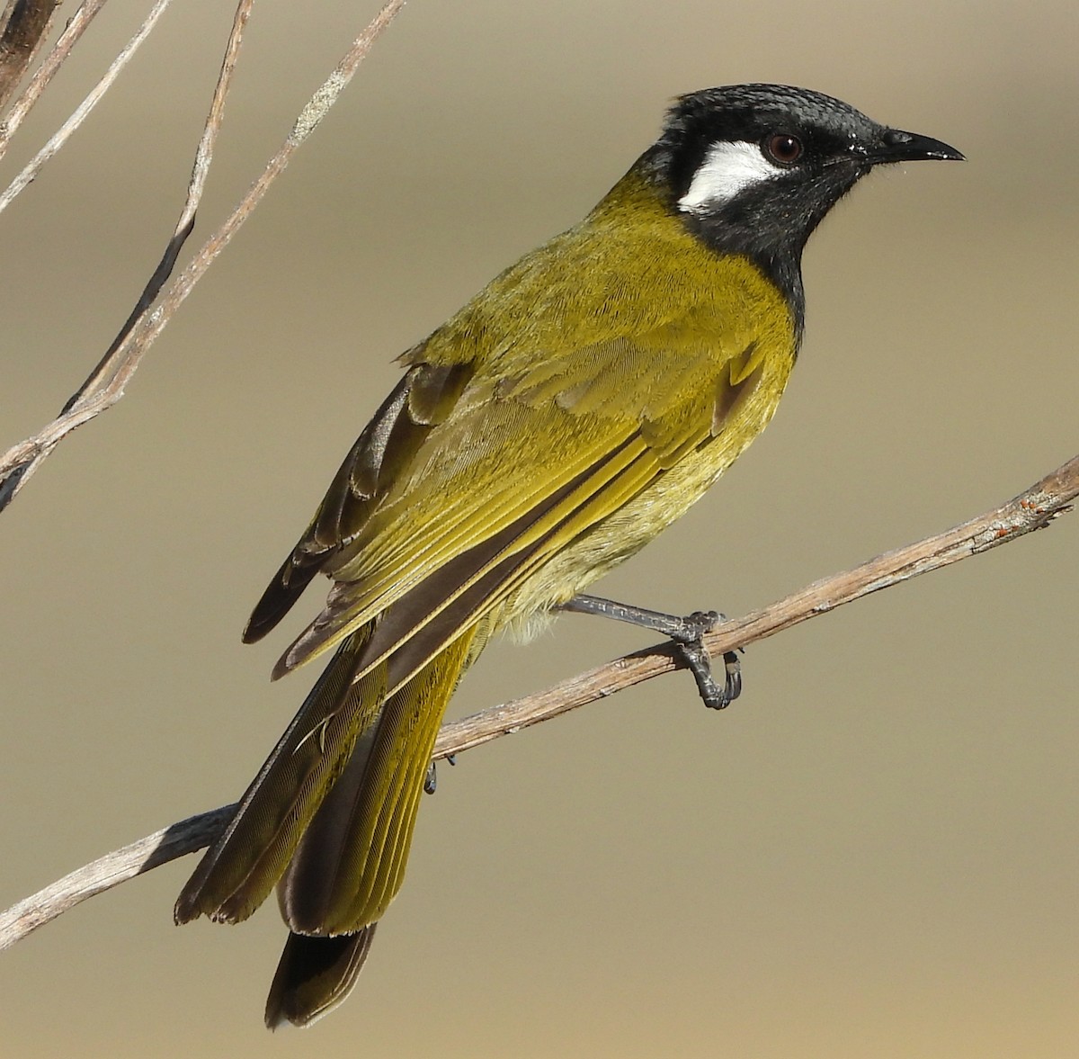
[[[877,165],[961,160],[807,89],[673,100],[658,139],[578,223],[399,359],[244,633],[331,582],[273,670],[330,654],[203,856],[178,923],[247,919],[277,888],[288,937],[265,1022],[350,993],[404,878],[447,703],[489,638],[560,610],[667,629],[706,703],[699,635],[585,594],[708,490],[776,410],[802,343],[802,252]]]

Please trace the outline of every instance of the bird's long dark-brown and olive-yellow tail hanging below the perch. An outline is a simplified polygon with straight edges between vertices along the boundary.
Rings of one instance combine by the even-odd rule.
[[[341,646],[176,902],[178,923],[238,922],[279,882],[292,934],[267,1004],[271,1028],[310,1023],[359,974],[400,887],[435,737],[476,630],[396,689],[386,674],[399,659],[354,679],[370,635],[365,627]]]

